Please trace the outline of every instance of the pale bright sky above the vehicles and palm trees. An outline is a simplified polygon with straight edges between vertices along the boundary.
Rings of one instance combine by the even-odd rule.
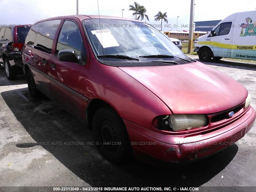
[[[129,5],[132,0],[98,0],[100,15],[132,18]],[[149,17],[147,23],[157,27],[159,22],[154,21],[154,15],[159,11],[167,12],[168,26],[163,30],[188,30],[190,20],[190,0],[136,0],[143,5]],[[98,15],[97,0],[79,0],[79,14]],[[222,20],[236,12],[256,10],[255,0],[195,0],[194,21]],[[76,14],[76,0],[0,0],[0,26],[4,24],[34,24],[34,22],[64,15]],[[5,16],[5,17],[4,17]],[[166,23],[163,23],[163,26]],[[186,26],[187,25],[187,26]],[[166,25],[167,26],[167,25]],[[158,28],[160,29],[160,28]]]

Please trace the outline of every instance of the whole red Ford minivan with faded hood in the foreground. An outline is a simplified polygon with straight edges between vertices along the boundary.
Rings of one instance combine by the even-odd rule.
[[[137,20],[41,20],[22,59],[31,96],[42,92],[82,120],[112,162],[206,157],[242,138],[256,117],[244,86]]]

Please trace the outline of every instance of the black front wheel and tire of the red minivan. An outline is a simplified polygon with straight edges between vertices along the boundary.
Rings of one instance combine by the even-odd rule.
[[[97,148],[108,161],[121,163],[130,159],[132,150],[122,118],[110,106],[100,108],[92,121]],[[112,144],[120,142],[120,144]]]

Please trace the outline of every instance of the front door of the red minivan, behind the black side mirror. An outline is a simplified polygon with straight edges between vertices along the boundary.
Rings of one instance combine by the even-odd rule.
[[[78,23],[79,21],[77,21]],[[63,49],[72,49],[77,55],[86,54],[82,27],[74,20],[65,20],[56,42],[56,51],[50,59],[49,74],[53,99],[81,120],[85,120],[87,98],[84,89],[88,64],[59,61],[57,54]]]

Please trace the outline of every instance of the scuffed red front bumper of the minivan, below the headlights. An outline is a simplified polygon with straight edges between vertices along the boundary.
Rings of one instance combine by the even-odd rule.
[[[244,137],[252,128],[255,110],[248,111],[236,121],[205,134],[166,135],[142,128],[124,120],[135,158],[157,158],[167,162],[186,162],[214,154]]]

